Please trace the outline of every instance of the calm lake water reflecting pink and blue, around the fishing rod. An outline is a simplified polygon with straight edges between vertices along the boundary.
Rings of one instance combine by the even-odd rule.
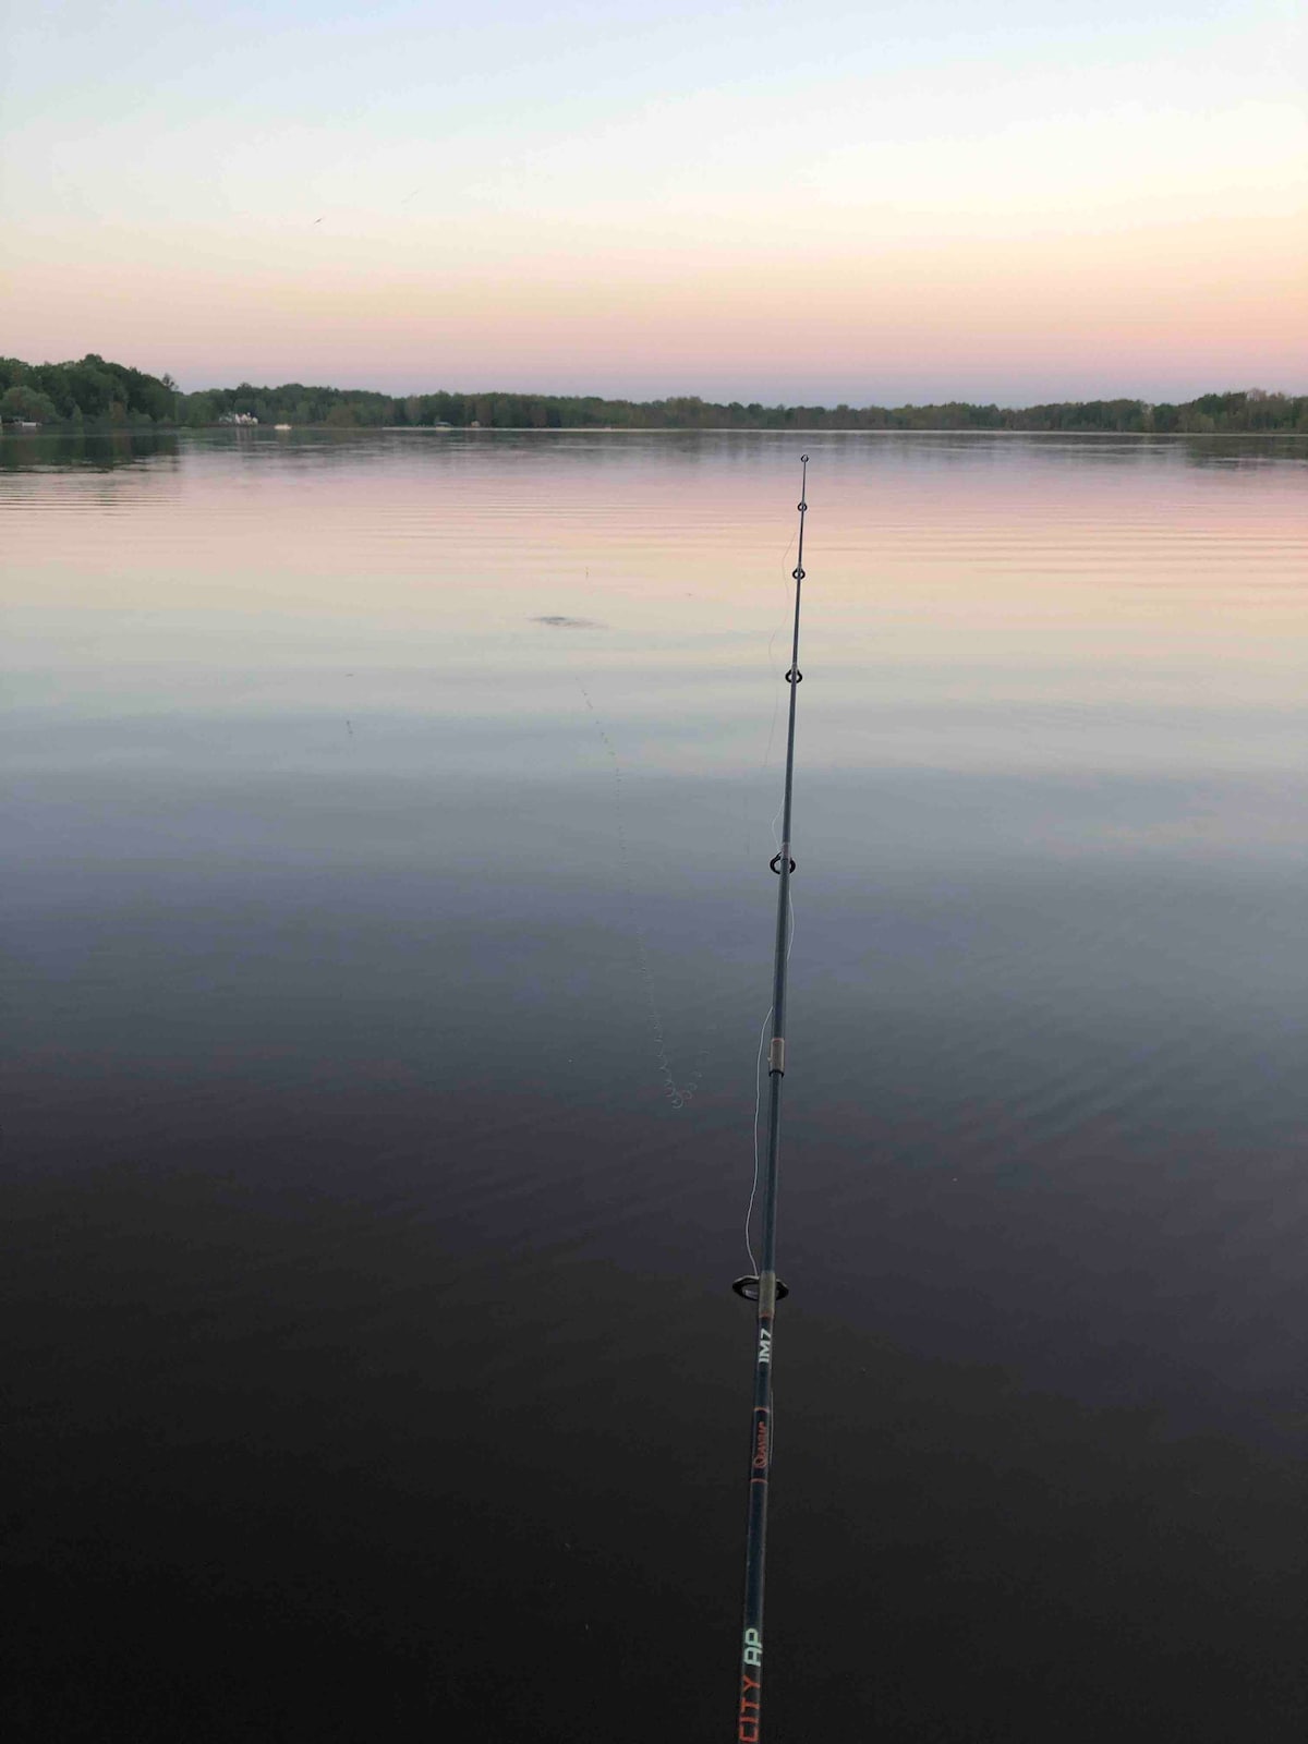
[[[1308,441],[0,441],[9,1735],[1298,1741]]]

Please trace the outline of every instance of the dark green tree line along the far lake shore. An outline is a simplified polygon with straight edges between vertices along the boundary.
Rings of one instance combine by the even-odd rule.
[[[595,394],[408,394],[352,387],[208,387],[183,394],[171,375],[143,375],[89,354],[80,363],[0,358],[0,419],[37,424],[187,426],[232,422],[314,424],[328,429],[828,429],[828,431],[1128,431],[1141,434],[1226,431],[1308,433],[1308,394],[1250,387],[1202,394],[1182,405],[1144,399],[1078,399],[1045,406],[764,406],[732,399],[600,399]]]

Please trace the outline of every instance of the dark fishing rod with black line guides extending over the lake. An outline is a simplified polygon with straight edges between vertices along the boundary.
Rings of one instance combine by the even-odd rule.
[[[795,787],[795,701],[804,677],[799,670],[799,600],[804,588],[804,516],[807,514],[809,457],[802,453],[799,459],[802,476],[797,504],[799,549],[792,570],[795,582],[795,630],[790,642],[790,671],[787,673],[787,684],[790,685],[787,781],[781,802],[781,848],[771,860],[771,869],[781,882],[776,891],[773,1038],[767,1046],[767,1165],[762,1179],[762,1266],[757,1277],[736,1278],[731,1285],[738,1296],[759,1305],[759,1343],[753,1357],[753,1416],[750,1420],[750,1510],[745,1529],[745,1632],[741,1636],[736,1744],[759,1744],[762,1739],[762,1601],[764,1557],[767,1552],[767,1488],[773,1475],[773,1320],[776,1318],[776,1305],[790,1294],[776,1277],[776,1172],[781,1149],[781,1080],[787,1069],[787,928],[790,921],[790,875],[795,870],[795,862],[790,858],[790,799]]]

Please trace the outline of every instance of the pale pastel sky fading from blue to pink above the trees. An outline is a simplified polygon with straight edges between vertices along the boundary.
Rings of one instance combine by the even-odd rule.
[[[3,0],[0,352],[900,403],[1308,391],[1299,0]]]

